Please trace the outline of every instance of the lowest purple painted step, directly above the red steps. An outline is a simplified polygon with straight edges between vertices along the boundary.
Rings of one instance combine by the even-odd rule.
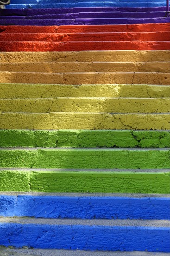
[[[133,19],[133,18],[111,18],[111,19],[46,19],[46,20],[28,20],[13,19],[0,20],[0,25],[9,26],[61,26],[61,25],[109,25],[109,24],[145,24],[145,23],[169,23],[170,17],[150,18],[150,19]]]

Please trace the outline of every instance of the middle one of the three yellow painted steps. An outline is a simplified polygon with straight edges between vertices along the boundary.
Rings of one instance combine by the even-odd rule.
[[[167,113],[170,98],[38,98],[1,99],[1,112]]]

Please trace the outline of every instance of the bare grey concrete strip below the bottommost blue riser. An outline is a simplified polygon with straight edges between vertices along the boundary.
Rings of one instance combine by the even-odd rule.
[[[169,256],[166,252],[144,252],[144,251],[84,251],[84,250],[62,250],[62,249],[10,249],[0,247],[3,256]]]

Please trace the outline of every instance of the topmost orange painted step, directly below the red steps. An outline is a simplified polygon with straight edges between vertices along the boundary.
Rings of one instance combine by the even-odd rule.
[[[0,62],[44,61],[170,61],[169,50],[80,51],[80,52],[1,52]]]

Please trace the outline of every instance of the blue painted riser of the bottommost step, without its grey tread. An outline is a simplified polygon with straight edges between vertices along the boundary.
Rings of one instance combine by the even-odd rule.
[[[50,247],[50,249],[117,251],[119,248],[126,251],[170,251],[168,228],[18,223],[1,223],[0,226],[1,243],[17,248],[31,246],[42,249]]]

